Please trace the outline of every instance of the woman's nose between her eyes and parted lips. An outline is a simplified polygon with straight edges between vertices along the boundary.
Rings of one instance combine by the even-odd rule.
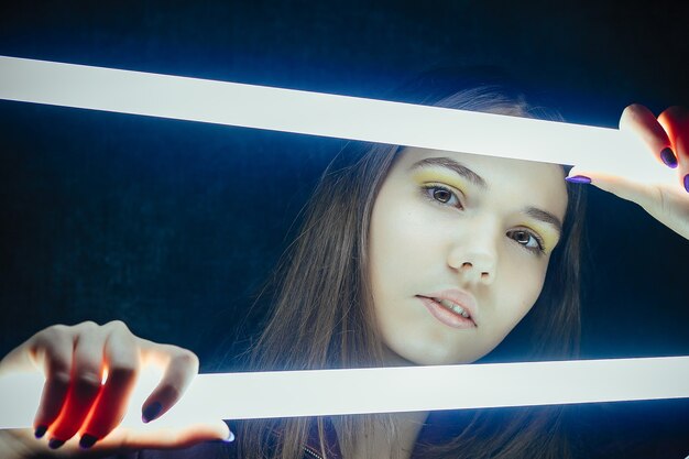
[[[447,263],[461,281],[490,285],[497,274],[497,231],[483,227],[471,232],[452,245]]]

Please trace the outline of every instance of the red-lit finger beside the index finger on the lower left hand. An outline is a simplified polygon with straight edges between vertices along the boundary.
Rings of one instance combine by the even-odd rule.
[[[120,424],[139,374],[141,357],[136,338],[122,323],[111,323],[108,328],[103,351],[108,376],[81,430],[79,445],[83,448],[92,447]]]

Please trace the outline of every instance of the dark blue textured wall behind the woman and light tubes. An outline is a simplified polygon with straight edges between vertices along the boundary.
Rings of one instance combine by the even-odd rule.
[[[364,97],[437,64],[497,65],[608,127],[634,101],[689,105],[686,2],[557,3],[26,1],[0,7],[0,55]],[[8,101],[0,138],[0,353],[50,324],[120,318],[205,368],[241,349],[342,144]],[[584,357],[689,354],[687,241],[595,189],[588,221]]]

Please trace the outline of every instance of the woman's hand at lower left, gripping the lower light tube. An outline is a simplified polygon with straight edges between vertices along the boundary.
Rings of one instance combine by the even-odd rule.
[[[140,369],[147,364],[164,369],[160,384],[142,406],[142,418],[153,422],[179,400],[197,374],[198,358],[192,351],[139,338],[119,320],[102,326],[92,321],[56,325],[39,331],[0,361],[0,375],[18,371],[45,374],[35,430],[0,431],[0,447],[12,447],[18,458],[58,448],[56,456],[81,452],[92,457],[230,438],[220,419],[146,433],[118,427]],[[47,438],[47,444],[34,435]]]

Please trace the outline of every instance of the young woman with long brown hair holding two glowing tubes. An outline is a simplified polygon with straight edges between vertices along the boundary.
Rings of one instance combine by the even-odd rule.
[[[431,92],[414,101],[534,116],[521,96],[495,88]],[[350,144],[324,174],[302,231],[275,272],[273,309],[249,368],[470,363],[520,323],[531,337],[524,359],[576,357],[582,183],[639,204],[689,239],[688,112],[671,108],[656,119],[631,106],[621,128],[676,168],[678,182],[652,187],[551,164]],[[508,416],[477,411],[447,425],[428,413],[253,420],[233,428],[232,445],[179,449],[233,434],[221,422],[157,435],[117,428],[139,369],[151,361],[166,368],[142,407],[143,417],[154,422],[196,373],[192,352],[135,337],[121,323],[36,334],[0,362],[0,372],[45,372],[35,433],[4,431],[0,446],[15,458],[50,449],[140,458],[571,455],[558,407],[520,408]],[[127,452],[155,448],[171,449]]]

